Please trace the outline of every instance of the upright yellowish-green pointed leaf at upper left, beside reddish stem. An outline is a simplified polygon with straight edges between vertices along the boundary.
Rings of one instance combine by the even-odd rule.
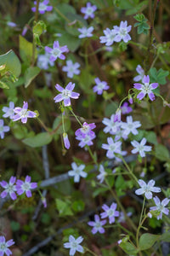
[[[25,38],[21,36],[19,38],[19,42],[20,42],[20,57],[22,61],[26,62],[27,66],[30,66],[31,59],[32,59],[33,46],[30,42],[28,42]],[[37,59],[37,49],[35,53],[35,59]]]

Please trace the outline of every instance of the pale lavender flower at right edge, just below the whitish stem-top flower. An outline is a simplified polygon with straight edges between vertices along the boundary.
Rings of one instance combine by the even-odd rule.
[[[165,198],[164,200],[160,201],[156,196],[154,197],[154,201],[156,203],[156,207],[150,207],[150,210],[160,212],[160,214],[157,216],[157,219],[162,218],[162,213],[166,215],[169,214],[169,210],[166,208],[167,204],[169,203],[169,199]]]

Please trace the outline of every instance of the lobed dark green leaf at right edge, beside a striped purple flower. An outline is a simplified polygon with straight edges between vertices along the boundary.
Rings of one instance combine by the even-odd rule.
[[[150,68],[150,83],[158,83],[158,84],[166,84],[166,77],[168,76],[169,72],[160,68],[158,71],[156,67]]]

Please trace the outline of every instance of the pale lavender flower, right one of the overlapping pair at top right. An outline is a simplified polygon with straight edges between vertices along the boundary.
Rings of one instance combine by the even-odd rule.
[[[120,26],[114,26],[114,31],[116,32],[116,37],[114,38],[115,42],[120,42],[123,40],[127,43],[131,40],[128,32],[131,31],[132,26],[127,26],[127,20],[121,21]]]

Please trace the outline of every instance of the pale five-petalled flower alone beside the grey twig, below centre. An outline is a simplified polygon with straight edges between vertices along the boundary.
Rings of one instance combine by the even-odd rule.
[[[88,174],[86,172],[83,172],[85,166],[84,165],[80,165],[77,166],[77,164],[75,162],[73,162],[71,164],[72,170],[68,172],[69,176],[73,176],[74,177],[74,182],[75,183],[79,183],[80,181],[80,177],[87,177]]]

